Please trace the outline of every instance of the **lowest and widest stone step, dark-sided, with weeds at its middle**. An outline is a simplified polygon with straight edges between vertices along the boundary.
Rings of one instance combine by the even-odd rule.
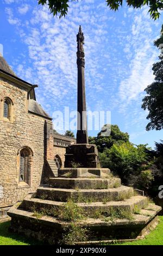
[[[88,243],[89,241],[106,241],[115,238],[116,240],[143,238],[159,223],[157,215],[160,210],[161,207],[155,205],[155,211],[152,210],[151,216],[139,214],[133,215],[133,220],[117,218],[108,221],[100,218],[87,218],[76,222],[76,225],[89,229]],[[12,217],[11,231],[32,236],[53,245],[62,241],[62,235],[67,234],[72,225],[71,222],[58,221],[51,216],[37,218],[33,212],[15,207],[9,210],[8,215]]]

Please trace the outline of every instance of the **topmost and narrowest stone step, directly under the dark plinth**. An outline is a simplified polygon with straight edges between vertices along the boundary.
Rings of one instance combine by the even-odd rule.
[[[108,168],[62,168],[58,176],[63,178],[109,178]]]

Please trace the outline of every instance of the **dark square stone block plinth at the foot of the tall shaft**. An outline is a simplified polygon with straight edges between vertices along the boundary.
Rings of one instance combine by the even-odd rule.
[[[65,168],[74,167],[96,168],[98,164],[98,151],[93,144],[74,144],[66,148]]]

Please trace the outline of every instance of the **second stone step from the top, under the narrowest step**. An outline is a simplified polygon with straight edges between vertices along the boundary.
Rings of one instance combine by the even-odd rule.
[[[50,178],[49,186],[56,188],[107,189],[121,186],[118,178]]]

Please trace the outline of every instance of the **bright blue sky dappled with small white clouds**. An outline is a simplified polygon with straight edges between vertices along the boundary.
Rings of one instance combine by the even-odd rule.
[[[124,5],[114,13],[104,0],[79,0],[60,20],[36,0],[2,0],[0,44],[17,76],[39,84],[37,101],[49,114],[65,106],[74,111],[76,34],[82,25],[87,109],[111,111],[111,124],[128,132],[131,142],[154,147],[163,131],[145,130],[147,112],[141,101],[143,90],[154,80],[152,64],[159,51],[153,41],[160,35],[162,17],[151,20],[146,7],[134,10]]]

